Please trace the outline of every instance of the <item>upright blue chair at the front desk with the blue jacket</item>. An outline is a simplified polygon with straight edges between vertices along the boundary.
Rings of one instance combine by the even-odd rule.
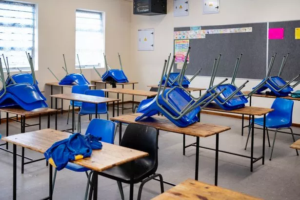
[[[95,135],[97,137],[101,137],[102,142],[114,144],[115,123],[112,121],[105,120],[105,119],[93,119],[90,122],[90,124],[88,125],[87,130],[85,132],[85,134],[88,134],[88,133]],[[82,166],[72,163],[72,162],[68,162],[68,164],[65,168],[72,170],[74,172],[85,172],[85,174],[88,178],[88,181],[86,184],[86,191],[85,191],[85,200],[86,200],[88,189],[89,189],[90,178],[91,178],[93,171],[88,173],[87,171],[89,171],[90,169],[82,167]],[[54,172],[52,192],[54,190],[56,174],[57,174],[57,169],[55,169],[55,172]],[[120,183],[118,182],[118,185],[119,184]]]

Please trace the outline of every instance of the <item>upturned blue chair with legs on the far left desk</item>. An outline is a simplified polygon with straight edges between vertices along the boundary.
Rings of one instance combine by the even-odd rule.
[[[10,76],[7,60],[8,79],[5,81],[0,59],[0,80],[3,86],[0,90],[0,108],[21,107],[26,111],[32,111],[35,109],[48,107],[46,98],[41,94],[38,87],[38,82],[34,73],[32,57],[29,54],[28,61],[31,68],[31,74],[26,73],[24,75],[17,74]],[[32,77],[32,79],[30,77]],[[16,78],[17,82],[14,78]]]

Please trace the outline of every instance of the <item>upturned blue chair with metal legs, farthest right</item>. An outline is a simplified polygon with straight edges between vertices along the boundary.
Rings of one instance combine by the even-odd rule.
[[[300,74],[298,74],[297,76],[295,76],[292,80],[290,80],[288,82],[284,81],[281,78],[282,71],[283,71],[283,69],[285,67],[285,64],[287,62],[287,59],[289,57],[289,53],[288,53],[282,59],[282,63],[281,63],[281,66],[280,66],[278,76],[270,76],[270,73],[271,73],[276,55],[277,55],[277,53],[275,53],[272,56],[266,78],[264,78],[260,82],[260,84],[257,86],[257,87],[262,86],[262,87],[260,87],[260,89],[257,89],[257,92],[262,92],[266,89],[270,89],[271,90],[270,93],[272,95],[275,95],[275,96],[288,96],[293,91],[293,88],[295,88],[296,86],[298,86],[300,84],[300,80],[299,80],[294,85],[291,85],[291,83],[293,81],[297,80],[300,77]],[[256,89],[257,87],[255,87],[254,89]]]

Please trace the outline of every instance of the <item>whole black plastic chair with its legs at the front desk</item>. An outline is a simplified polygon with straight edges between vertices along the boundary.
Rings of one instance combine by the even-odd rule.
[[[134,184],[141,182],[138,200],[141,198],[141,191],[146,182],[156,177],[160,178],[160,190],[163,189],[163,179],[160,174],[156,174],[158,167],[158,130],[154,127],[129,124],[125,130],[120,146],[147,152],[149,156],[135,160],[134,164]],[[99,175],[111,178],[123,183],[130,184],[130,177],[132,175],[131,164],[126,163],[120,166],[113,167]],[[123,200],[122,185],[119,185],[120,194]]]

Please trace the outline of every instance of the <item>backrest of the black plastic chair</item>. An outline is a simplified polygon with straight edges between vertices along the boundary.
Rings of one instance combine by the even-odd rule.
[[[158,130],[141,124],[129,124],[122,137],[120,146],[147,152],[149,156],[140,158],[147,168],[155,172],[158,167]],[[143,162],[143,161],[145,162]]]

